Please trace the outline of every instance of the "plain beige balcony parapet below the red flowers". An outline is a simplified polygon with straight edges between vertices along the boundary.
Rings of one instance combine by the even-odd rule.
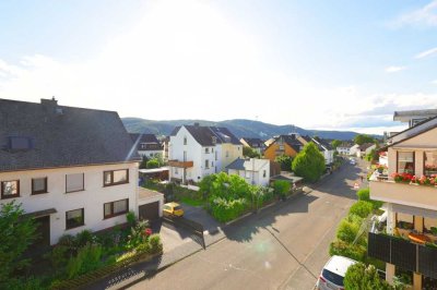
[[[370,198],[437,210],[437,188],[370,179]]]

